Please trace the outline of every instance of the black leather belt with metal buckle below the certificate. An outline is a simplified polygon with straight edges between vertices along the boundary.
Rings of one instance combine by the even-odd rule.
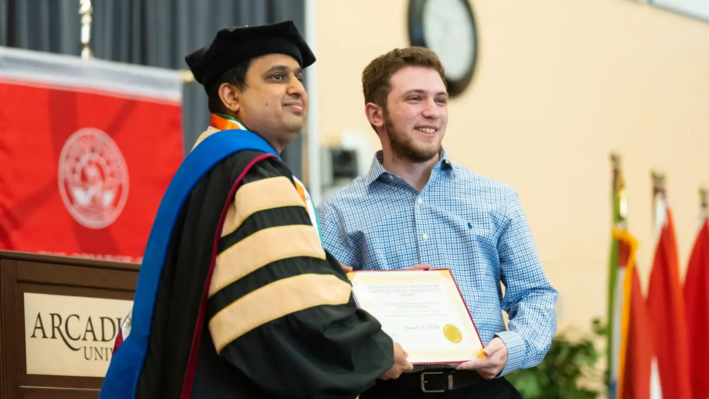
[[[484,378],[475,370],[423,370],[415,373],[401,374],[391,383],[406,384],[407,388],[418,387],[422,392],[445,392],[471,386]]]

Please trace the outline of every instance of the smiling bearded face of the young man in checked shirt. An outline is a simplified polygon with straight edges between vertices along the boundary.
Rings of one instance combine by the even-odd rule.
[[[391,76],[390,86],[386,108],[379,107],[381,123],[373,123],[381,125],[382,147],[411,162],[436,157],[448,125],[448,94],[439,72],[402,67]]]

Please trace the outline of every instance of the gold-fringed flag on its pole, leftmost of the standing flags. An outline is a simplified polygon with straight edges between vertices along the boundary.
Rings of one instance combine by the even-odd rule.
[[[649,399],[652,347],[635,268],[637,240],[627,230],[625,183],[614,158],[613,241],[608,307],[609,399]]]

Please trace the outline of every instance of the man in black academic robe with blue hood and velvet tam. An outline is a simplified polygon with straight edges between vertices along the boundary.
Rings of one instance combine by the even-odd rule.
[[[357,309],[279,158],[315,62],[294,23],[220,30],[186,62],[210,128],[162,199],[101,399],[354,399],[412,371]]]

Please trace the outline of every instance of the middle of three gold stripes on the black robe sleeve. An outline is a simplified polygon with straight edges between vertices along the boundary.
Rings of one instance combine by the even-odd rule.
[[[209,297],[271,262],[292,257],[325,259],[315,227],[286,225],[259,230],[217,255]]]

